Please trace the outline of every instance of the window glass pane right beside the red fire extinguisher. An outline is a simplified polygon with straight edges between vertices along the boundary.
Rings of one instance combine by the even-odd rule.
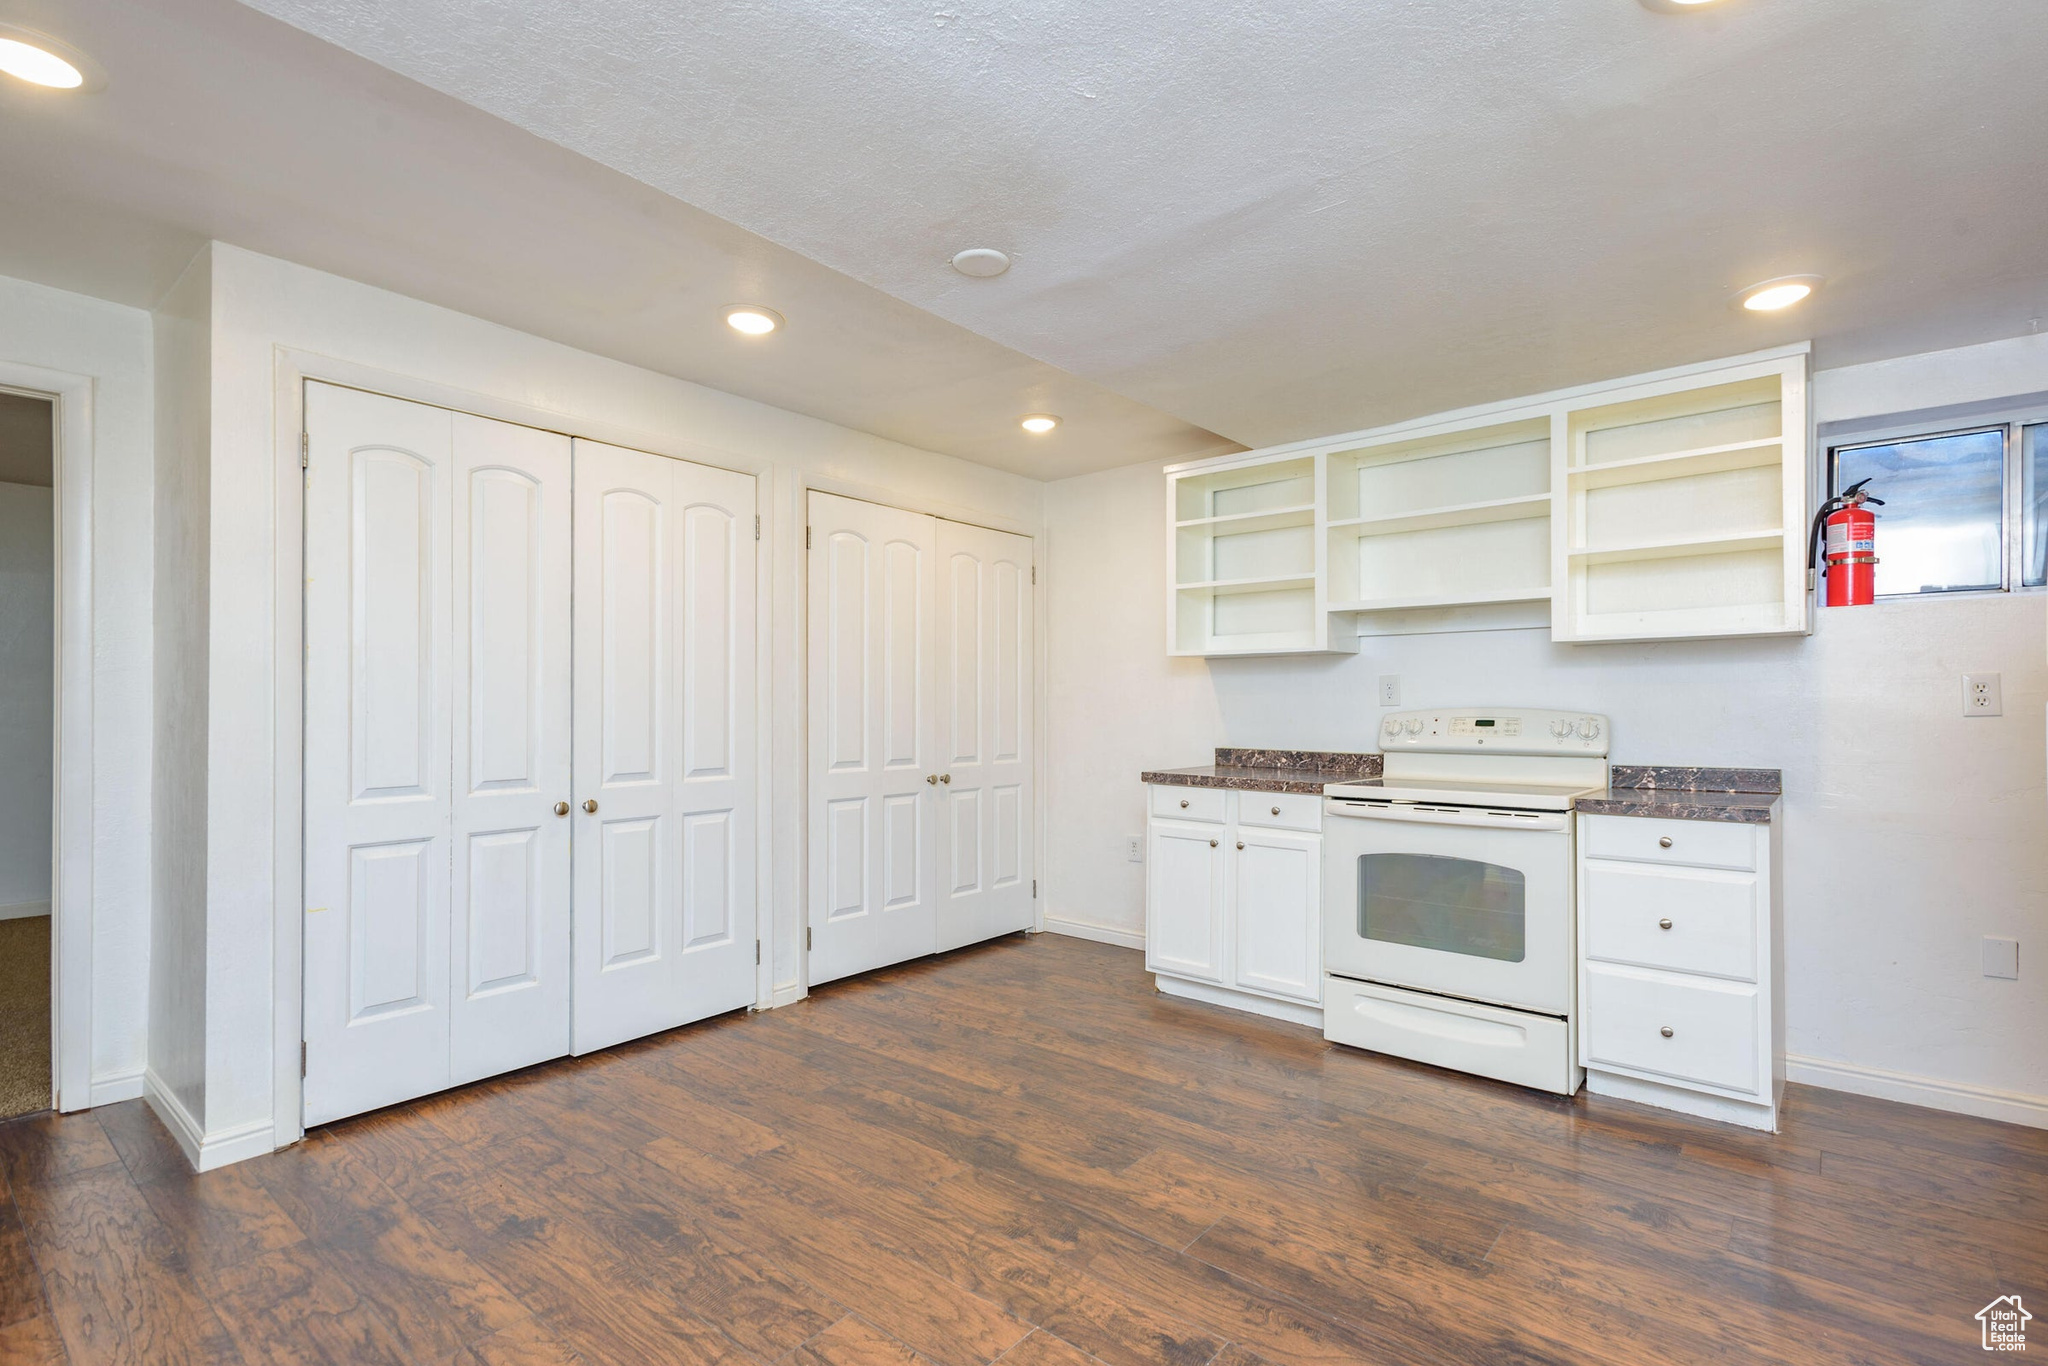
[[[1870,479],[1878,592],[2001,588],[2005,428],[1835,451],[1835,492]]]

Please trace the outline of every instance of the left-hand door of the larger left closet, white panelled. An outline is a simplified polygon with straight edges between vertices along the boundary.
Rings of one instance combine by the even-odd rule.
[[[569,1051],[569,440],[305,403],[317,1124]]]

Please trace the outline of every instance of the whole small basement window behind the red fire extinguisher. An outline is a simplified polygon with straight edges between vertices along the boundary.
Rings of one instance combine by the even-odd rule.
[[[1878,596],[2048,584],[2048,420],[1898,432],[1827,453],[1827,492],[1878,508]]]

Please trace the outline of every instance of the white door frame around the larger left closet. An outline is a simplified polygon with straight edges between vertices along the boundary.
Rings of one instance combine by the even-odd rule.
[[[4,379],[4,375],[0,375]],[[676,438],[643,428],[563,414],[530,403],[518,403],[471,389],[459,389],[430,379],[397,375],[354,360],[338,360],[291,346],[272,352],[272,471],[274,555],[276,565],[276,659],[274,659],[274,731],[272,731],[272,981],[270,981],[270,1128],[272,1147],[287,1147],[305,1137],[305,1102],[301,1075],[293,1067],[301,1059],[305,1038],[305,479],[301,434],[305,432],[305,385],[328,383],[362,389],[391,399],[446,408],[477,418],[530,426],[569,438],[600,440],[633,451],[647,451],[678,461],[729,469],[750,475],[756,483],[756,508],[762,508],[760,541],[754,543],[756,580],[756,641],[754,690],[756,727],[754,762],[760,772],[756,791],[758,829],[770,829],[774,811],[774,672],[772,672],[772,582],[776,524],[770,512],[774,463],[743,451],[729,451],[702,440]],[[756,1010],[772,995],[774,965],[774,850],[770,840],[756,840],[756,932],[762,938],[762,965],[754,975]]]

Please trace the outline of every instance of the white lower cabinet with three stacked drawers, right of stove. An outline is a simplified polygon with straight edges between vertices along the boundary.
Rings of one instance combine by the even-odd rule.
[[[1579,817],[1587,1090],[1778,1128],[1776,866],[1769,825]]]

